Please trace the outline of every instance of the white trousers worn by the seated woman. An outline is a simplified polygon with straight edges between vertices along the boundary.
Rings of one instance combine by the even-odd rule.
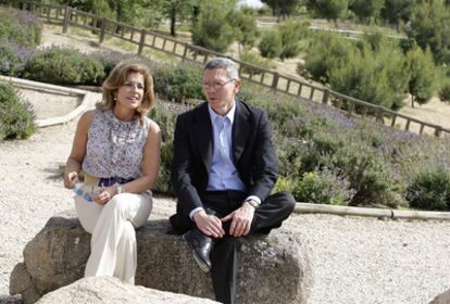
[[[85,277],[116,277],[134,284],[137,267],[135,228],[146,224],[150,215],[151,192],[116,194],[105,205],[76,195],[75,207],[83,228],[92,235]]]

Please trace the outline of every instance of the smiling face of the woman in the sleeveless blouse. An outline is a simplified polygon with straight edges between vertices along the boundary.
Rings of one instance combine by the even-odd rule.
[[[115,106],[136,110],[142,102],[143,91],[143,75],[135,72],[129,73],[125,83],[117,89]]]

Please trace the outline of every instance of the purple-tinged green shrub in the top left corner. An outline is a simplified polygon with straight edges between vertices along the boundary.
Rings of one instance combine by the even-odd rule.
[[[40,43],[42,25],[29,12],[0,7],[0,38],[15,40],[21,46],[35,47]]]

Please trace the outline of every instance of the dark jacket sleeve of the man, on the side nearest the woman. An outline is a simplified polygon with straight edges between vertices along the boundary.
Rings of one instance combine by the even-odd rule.
[[[185,215],[196,207],[202,207],[200,197],[191,182],[192,151],[187,115],[179,115],[175,125],[174,157],[171,179]]]

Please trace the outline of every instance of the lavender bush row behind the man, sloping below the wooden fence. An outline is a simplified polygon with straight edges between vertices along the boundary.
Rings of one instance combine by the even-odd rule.
[[[280,173],[276,190],[313,203],[450,210],[448,140],[349,119],[333,107],[248,86],[241,98],[265,109],[272,122]],[[150,114],[165,134],[162,191],[171,191],[174,119],[185,110],[160,104]]]

